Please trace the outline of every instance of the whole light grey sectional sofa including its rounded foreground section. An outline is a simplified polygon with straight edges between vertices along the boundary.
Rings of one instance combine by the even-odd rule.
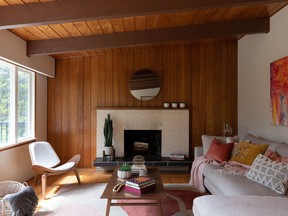
[[[203,151],[203,155],[206,155],[214,138],[223,143],[225,143],[226,140],[226,137],[203,135],[203,149],[198,148],[195,151],[198,153],[197,156],[199,156],[199,152],[201,151]],[[248,134],[244,140],[249,140],[254,144],[269,144],[267,149],[281,157],[288,157],[288,144],[277,143],[251,134]],[[280,209],[278,211],[274,209],[274,215],[288,215],[287,192],[285,194],[279,194],[261,183],[250,180],[245,175],[223,174],[218,172],[221,169],[224,169],[224,166],[214,164],[205,165],[203,169],[204,186],[212,195],[198,197],[194,200],[193,213],[195,216],[206,216],[209,215],[209,212],[211,215],[211,211],[213,212],[213,216],[271,215],[268,214],[268,212],[271,212],[271,208],[274,209],[275,207]],[[228,201],[234,204],[227,205]],[[222,210],[220,208],[219,214],[216,214],[215,209],[219,209],[221,206],[223,207]],[[241,210],[241,208],[245,209],[245,211]]]

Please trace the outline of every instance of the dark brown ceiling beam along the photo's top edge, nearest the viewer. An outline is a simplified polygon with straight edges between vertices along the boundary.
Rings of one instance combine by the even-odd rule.
[[[62,0],[29,3],[0,7],[0,30],[275,2],[288,0]]]

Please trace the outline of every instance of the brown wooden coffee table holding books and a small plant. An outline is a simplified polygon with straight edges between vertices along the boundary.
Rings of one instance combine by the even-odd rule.
[[[161,200],[166,199],[166,193],[164,192],[164,186],[160,176],[159,169],[156,167],[148,168],[148,176],[156,179],[156,188],[151,192],[147,192],[141,195],[126,192],[124,188],[118,193],[113,192],[113,187],[121,183],[117,177],[118,168],[114,169],[114,172],[101,196],[101,199],[107,199],[106,216],[109,215],[111,206],[158,206],[159,215],[162,215]],[[126,200],[125,203],[112,202],[112,200]],[[129,202],[131,200],[132,202]],[[135,202],[139,200],[139,202]],[[151,202],[140,202],[140,200],[149,200]]]

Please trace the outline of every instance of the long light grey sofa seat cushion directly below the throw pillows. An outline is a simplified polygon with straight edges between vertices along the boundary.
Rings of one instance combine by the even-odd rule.
[[[276,193],[270,188],[254,182],[248,179],[246,176],[221,174],[220,172],[214,172],[214,170],[219,170],[223,168],[223,166],[213,164],[207,164],[204,167],[204,185],[212,194],[221,194],[227,196],[280,196],[280,194]]]

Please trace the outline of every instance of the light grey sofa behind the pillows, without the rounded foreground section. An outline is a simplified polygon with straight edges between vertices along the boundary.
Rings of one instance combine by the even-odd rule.
[[[203,154],[205,155],[209,149],[212,140],[216,138],[226,142],[226,137],[202,136]],[[249,140],[255,144],[269,144],[268,149],[278,153],[280,156],[288,157],[288,144],[277,143],[264,138],[256,137],[248,134],[244,140]],[[224,166],[207,164],[203,170],[204,185],[206,189],[213,195],[261,195],[261,196],[283,196],[270,188],[248,179],[243,175],[228,175],[214,172],[223,169]],[[287,194],[285,194],[287,196]]]

